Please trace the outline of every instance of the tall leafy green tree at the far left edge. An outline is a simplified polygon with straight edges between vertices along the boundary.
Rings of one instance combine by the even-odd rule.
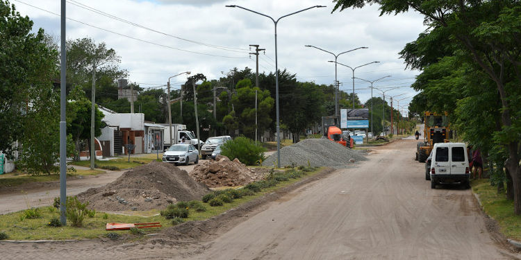
[[[13,144],[24,138],[28,103],[42,100],[58,75],[56,50],[49,49],[43,29],[31,33],[33,21],[9,1],[0,0],[0,150],[13,157]],[[41,96],[40,96],[41,94]]]

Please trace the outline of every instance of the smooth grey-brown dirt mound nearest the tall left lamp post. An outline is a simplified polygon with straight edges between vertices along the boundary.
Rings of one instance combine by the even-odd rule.
[[[210,190],[186,171],[165,162],[151,162],[126,171],[104,187],[78,194],[97,211],[162,209],[176,201],[200,200]]]

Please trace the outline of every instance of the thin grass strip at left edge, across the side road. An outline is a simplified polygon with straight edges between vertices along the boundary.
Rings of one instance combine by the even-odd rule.
[[[98,175],[105,173],[99,170],[67,171],[67,177]],[[60,180],[60,174],[28,175],[26,173],[6,173],[0,175],[0,188],[15,187],[28,182],[55,182]]]

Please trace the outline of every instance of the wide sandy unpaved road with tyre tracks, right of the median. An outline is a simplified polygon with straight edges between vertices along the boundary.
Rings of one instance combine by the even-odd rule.
[[[3,259],[517,259],[468,189],[430,189],[416,140],[295,189],[210,239],[2,243]],[[208,232],[208,230],[206,230]],[[210,230],[211,233],[211,230]]]

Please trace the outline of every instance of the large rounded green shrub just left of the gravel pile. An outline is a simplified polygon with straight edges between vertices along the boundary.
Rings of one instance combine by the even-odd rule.
[[[240,162],[246,165],[254,165],[262,162],[265,159],[266,148],[260,143],[247,137],[237,137],[233,140],[226,141],[221,146],[221,155],[233,160],[239,159]]]

